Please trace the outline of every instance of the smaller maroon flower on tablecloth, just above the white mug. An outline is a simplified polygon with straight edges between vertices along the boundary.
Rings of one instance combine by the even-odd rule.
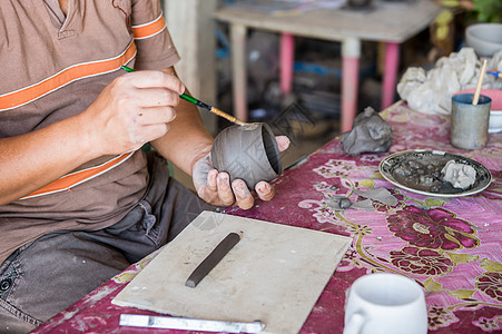
[[[390,254],[393,265],[416,275],[439,276],[449,273],[453,266],[450,258],[432,249],[404,247]]]

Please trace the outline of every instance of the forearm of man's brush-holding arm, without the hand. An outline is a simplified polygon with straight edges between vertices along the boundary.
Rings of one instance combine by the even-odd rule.
[[[0,205],[19,199],[97,157],[80,117],[0,139]]]

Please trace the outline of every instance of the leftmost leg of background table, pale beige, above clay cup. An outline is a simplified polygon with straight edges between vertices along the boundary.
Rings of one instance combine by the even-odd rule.
[[[230,24],[234,116],[243,121],[247,120],[246,35],[245,26]]]

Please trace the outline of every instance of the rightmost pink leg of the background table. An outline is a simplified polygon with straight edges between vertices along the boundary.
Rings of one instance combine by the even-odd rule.
[[[383,78],[382,106],[385,109],[394,101],[397,68],[400,66],[400,45],[387,42],[385,48],[385,68]]]

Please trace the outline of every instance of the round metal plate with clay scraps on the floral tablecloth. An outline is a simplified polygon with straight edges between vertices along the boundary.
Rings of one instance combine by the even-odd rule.
[[[444,166],[449,160],[455,160],[455,163],[472,166],[476,171],[476,179],[474,184],[467,189],[457,189],[453,187],[442,187],[436,193],[424,189],[424,187],[415,186],[411,183],[405,184],[400,179],[398,175],[394,170],[403,163],[410,160],[416,160],[422,164],[435,164]],[[484,190],[492,181],[492,175],[486,167],[482,164],[474,161],[473,159],[449,154],[440,150],[405,150],[390,155],[380,163],[378,170],[382,176],[391,184],[406,189],[412,193],[435,196],[435,197],[462,197],[478,194]]]

